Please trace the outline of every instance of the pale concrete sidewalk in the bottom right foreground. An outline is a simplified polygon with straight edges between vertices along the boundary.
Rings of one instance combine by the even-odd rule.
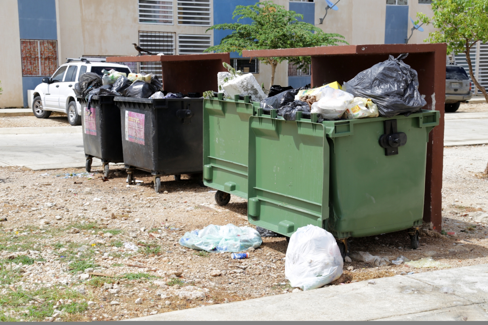
[[[376,284],[332,285],[127,321],[488,321],[488,264],[374,281]]]

